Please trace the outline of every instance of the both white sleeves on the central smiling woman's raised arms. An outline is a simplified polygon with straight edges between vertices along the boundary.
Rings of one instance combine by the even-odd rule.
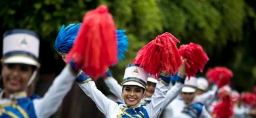
[[[95,102],[97,108],[100,109],[107,118],[121,117],[121,114],[124,113],[124,104],[117,104],[104,96],[104,94],[96,88],[94,81],[79,83],[79,86],[85,94]],[[158,81],[155,93],[152,96],[152,102],[147,106],[143,106],[150,118],[155,118],[158,116],[158,113],[160,113],[161,105],[163,100],[165,100],[165,95],[168,90],[169,86],[163,85],[163,83]]]

